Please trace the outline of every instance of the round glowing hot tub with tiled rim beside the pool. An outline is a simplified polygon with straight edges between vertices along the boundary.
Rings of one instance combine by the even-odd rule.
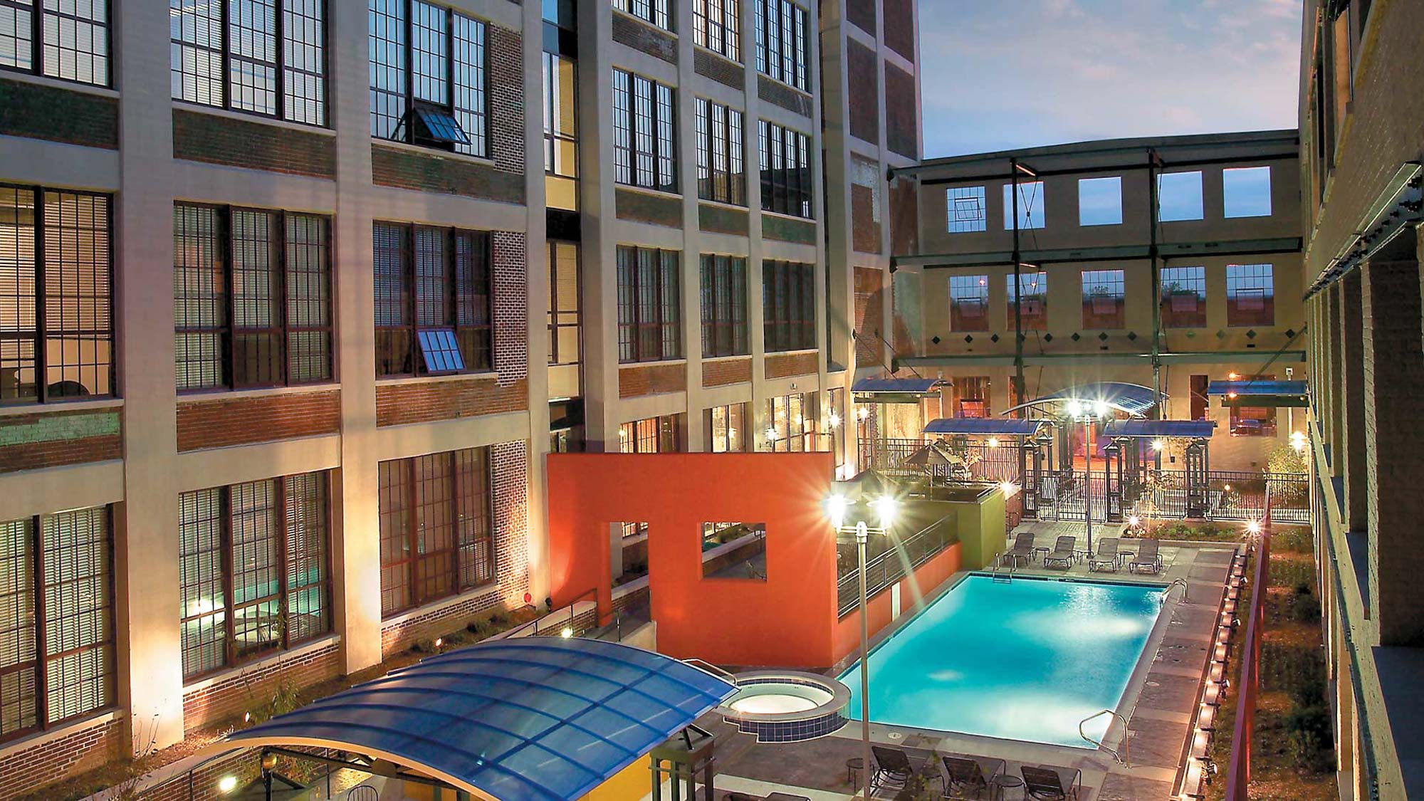
[[[738,673],[718,714],[758,743],[799,743],[846,725],[850,690],[834,678],[789,670]]]

